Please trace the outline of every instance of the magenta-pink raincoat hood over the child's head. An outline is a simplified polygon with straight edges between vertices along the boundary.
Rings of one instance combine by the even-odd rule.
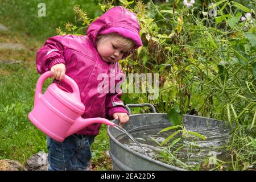
[[[122,6],[115,6],[109,9],[106,13],[101,15],[100,18],[92,22],[87,30],[87,35],[94,43],[94,46],[96,46],[96,38],[98,35],[113,33],[133,40],[135,44],[134,49],[142,46],[137,16],[135,13],[132,13]]]

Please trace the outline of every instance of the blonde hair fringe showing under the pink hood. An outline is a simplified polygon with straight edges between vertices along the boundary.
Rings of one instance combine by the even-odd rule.
[[[121,44],[122,46],[127,47],[127,52],[131,51],[134,47],[134,42],[131,39],[124,38],[118,34],[105,34],[105,35],[98,35],[96,38],[97,44],[101,44],[106,39],[112,39],[114,37],[118,37],[117,43]]]

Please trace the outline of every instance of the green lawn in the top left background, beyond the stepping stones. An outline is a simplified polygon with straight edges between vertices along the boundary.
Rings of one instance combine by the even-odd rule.
[[[23,36],[32,36],[44,41],[46,38],[56,35],[57,27],[64,27],[67,22],[75,22],[73,13],[75,5],[80,5],[81,9],[88,13],[89,18],[102,14],[98,1],[46,0],[43,1],[46,4],[46,16],[39,17],[39,3],[42,1],[1,0],[0,23]]]

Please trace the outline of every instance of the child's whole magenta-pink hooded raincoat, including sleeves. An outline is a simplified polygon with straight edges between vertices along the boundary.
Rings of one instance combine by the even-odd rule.
[[[98,92],[98,75],[106,74],[115,77],[115,85],[120,81],[121,72],[119,63],[106,63],[101,59],[96,49],[96,37],[102,34],[117,33],[133,40],[134,49],[142,46],[139,37],[139,23],[134,13],[122,6],[116,6],[96,19],[88,27],[87,36],[53,36],[47,39],[36,55],[36,68],[40,74],[51,70],[55,64],[65,64],[66,75],[76,81],[80,89],[81,101],[85,105],[83,118],[103,117],[113,119],[114,113],[127,113],[123,102],[120,100],[122,92]],[[133,49],[133,51],[134,51]],[[123,57],[128,56],[133,51]],[[55,82],[59,82],[56,81]],[[64,88],[72,92],[65,82],[60,82]],[[127,113],[128,114],[128,113]],[[54,121],[52,121],[54,122]],[[77,132],[77,134],[97,135],[100,123],[94,123]],[[61,127],[61,126],[60,126]]]

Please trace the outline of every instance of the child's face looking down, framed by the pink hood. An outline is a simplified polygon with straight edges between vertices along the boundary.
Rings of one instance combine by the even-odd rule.
[[[127,52],[127,47],[117,42],[118,36],[106,38],[101,43],[97,44],[98,53],[101,58],[107,63],[114,63],[122,59],[123,54]]]

